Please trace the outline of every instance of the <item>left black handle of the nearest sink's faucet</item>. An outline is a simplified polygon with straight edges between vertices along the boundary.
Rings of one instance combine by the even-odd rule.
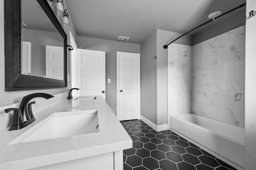
[[[21,115],[21,109],[19,108],[9,108],[4,109],[5,113],[9,113],[10,111],[13,111],[12,116],[12,123],[9,130],[18,130],[20,129],[20,125],[24,123],[22,115]]]

